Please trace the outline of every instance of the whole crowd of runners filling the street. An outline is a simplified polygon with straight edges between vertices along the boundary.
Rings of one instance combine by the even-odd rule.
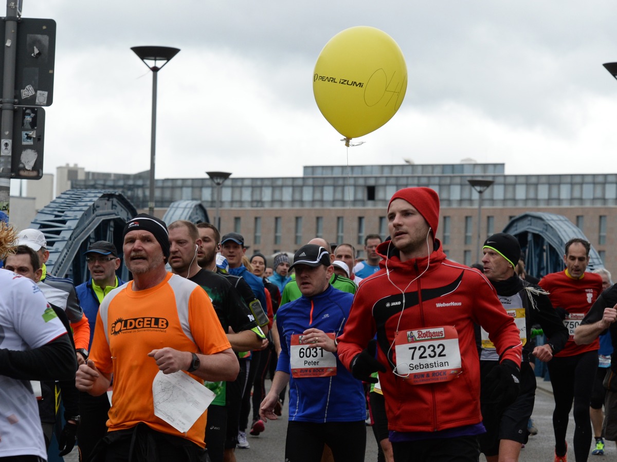
[[[518,461],[537,361],[554,462],[608,452],[617,286],[586,271],[589,242],[538,281],[510,234],[476,268],[449,260],[433,189],[396,192],[387,223],[358,261],[321,237],[247,255],[241,234],[141,213],[122,249],[88,244],[73,287],[47,273],[41,230],[0,222],[0,460],[46,460],[55,438],[83,461],[234,462],[286,407],[289,462],[363,461],[367,424],[379,461]]]

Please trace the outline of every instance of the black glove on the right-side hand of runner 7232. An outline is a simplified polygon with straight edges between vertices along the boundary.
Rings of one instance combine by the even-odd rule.
[[[481,401],[505,409],[516,400],[520,390],[521,369],[514,361],[503,360],[482,381]]]

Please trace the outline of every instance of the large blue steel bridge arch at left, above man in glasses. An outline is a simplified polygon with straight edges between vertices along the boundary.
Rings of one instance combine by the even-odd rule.
[[[122,258],[122,231],[135,215],[136,208],[118,191],[70,189],[41,208],[30,228],[39,229],[47,240],[47,272],[72,278],[77,285],[88,276],[81,255],[93,242],[114,242]],[[125,266],[120,265],[120,270],[126,279]]]

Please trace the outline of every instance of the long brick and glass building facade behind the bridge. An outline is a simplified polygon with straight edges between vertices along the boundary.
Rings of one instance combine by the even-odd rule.
[[[578,226],[608,270],[617,271],[616,237],[608,233],[617,217],[617,174],[506,175],[503,163],[444,165],[308,166],[289,178],[234,178],[220,187],[221,232],[241,233],[247,254],[294,252],[313,237],[349,242],[363,257],[364,236],[387,235],[386,208],[394,192],[428,186],[439,193],[437,237],[447,255],[470,265],[478,261],[479,194],[468,179],[491,179],[482,195],[481,240],[502,231],[524,212],[564,215]],[[86,175],[88,175],[86,173]],[[147,208],[148,179],[138,175],[91,175],[72,188],[115,189],[138,208]],[[157,215],[175,200],[200,200],[214,218],[217,187],[209,178],[157,179]]]

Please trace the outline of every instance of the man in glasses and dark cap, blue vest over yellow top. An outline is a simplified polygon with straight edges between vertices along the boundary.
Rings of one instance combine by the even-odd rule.
[[[97,241],[91,244],[84,254],[88,263],[91,278],[76,287],[81,307],[90,323],[90,339],[88,350],[92,346],[96,315],[99,305],[105,295],[112,289],[122,286],[124,281],[118,278],[115,272],[120,268],[118,250],[112,242]],[[85,352],[87,355],[88,352]],[[107,394],[92,396],[80,392],[81,424],[77,429],[78,445],[83,460],[88,460],[94,445],[107,433],[107,413],[109,400]]]

